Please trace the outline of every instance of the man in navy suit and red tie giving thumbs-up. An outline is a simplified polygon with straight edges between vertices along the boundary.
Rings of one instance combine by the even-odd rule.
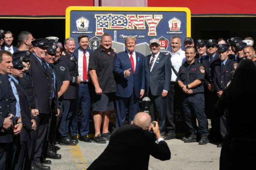
[[[139,98],[145,91],[145,56],[135,52],[136,38],[127,37],[125,47],[114,58],[113,72],[117,81],[117,127],[125,125],[128,109],[128,124],[138,112]]]

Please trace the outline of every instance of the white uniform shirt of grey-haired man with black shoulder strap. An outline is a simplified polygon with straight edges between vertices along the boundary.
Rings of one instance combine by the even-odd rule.
[[[182,51],[181,49],[175,53],[172,53],[171,51],[171,63],[174,69],[179,72],[180,67],[187,61],[185,56],[185,51]],[[175,75],[174,71],[171,70],[171,82],[175,82],[177,79],[177,76]]]

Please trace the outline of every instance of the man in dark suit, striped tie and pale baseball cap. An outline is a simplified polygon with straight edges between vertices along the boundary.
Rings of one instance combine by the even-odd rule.
[[[168,55],[159,52],[158,39],[150,40],[152,54],[145,57],[146,94],[150,98],[150,116],[159,121],[160,134],[165,133],[167,101],[166,96],[171,82],[171,61]],[[157,113],[157,115],[156,115]]]

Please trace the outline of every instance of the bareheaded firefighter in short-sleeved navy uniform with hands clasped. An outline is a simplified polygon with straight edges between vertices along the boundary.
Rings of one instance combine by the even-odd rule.
[[[195,48],[187,47],[185,50],[187,61],[180,67],[177,81],[182,88],[182,107],[185,114],[185,122],[189,126],[190,136],[184,140],[185,143],[196,142],[196,133],[201,135],[199,144],[208,143],[208,124],[204,113],[204,87],[203,79],[205,69],[203,65],[195,61]],[[192,110],[191,110],[192,109]],[[198,130],[194,121],[191,120],[192,114],[198,120]]]

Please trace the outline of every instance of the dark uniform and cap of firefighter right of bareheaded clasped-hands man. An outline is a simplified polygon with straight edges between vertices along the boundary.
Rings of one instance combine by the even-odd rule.
[[[211,42],[210,42],[211,41]],[[218,41],[216,40],[207,40],[205,42],[207,46],[217,45]],[[214,69],[221,62],[218,53],[214,56],[206,55],[202,60],[202,65],[205,68],[205,77],[203,80],[204,84],[204,97],[205,97],[205,114],[207,118],[211,119],[211,131],[209,134],[209,140],[212,142],[221,141],[220,135],[220,118],[216,118],[213,113],[213,107],[218,101],[219,97],[216,95],[213,78],[214,78]]]

